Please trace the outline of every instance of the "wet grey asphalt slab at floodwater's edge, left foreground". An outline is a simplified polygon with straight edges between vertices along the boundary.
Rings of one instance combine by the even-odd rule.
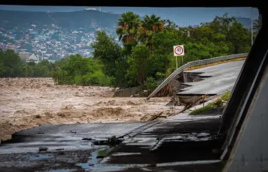
[[[12,135],[11,140],[0,144],[0,153],[35,152],[40,146],[49,150],[81,150],[91,148],[92,140],[107,140],[109,137],[131,133],[136,128],[150,126],[145,122],[118,122],[102,124],[47,124],[30,128]],[[84,140],[83,140],[84,139]]]

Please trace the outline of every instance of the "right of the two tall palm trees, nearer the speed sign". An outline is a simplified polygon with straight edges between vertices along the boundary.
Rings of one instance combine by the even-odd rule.
[[[139,41],[143,42],[152,51],[152,36],[154,33],[161,32],[164,28],[164,23],[160,17],[156,15],[145,15],[141,21],[141,27],[139,28]]]

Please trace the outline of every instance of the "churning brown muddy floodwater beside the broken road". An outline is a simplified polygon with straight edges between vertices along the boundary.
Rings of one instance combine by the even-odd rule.
[[[139,122],[163,112],[170,97],[113,97],[114,88],[56,86],[52,78],[0,79],[0,140],[39,124]],[[176,107],[179,111],[183,107]]]

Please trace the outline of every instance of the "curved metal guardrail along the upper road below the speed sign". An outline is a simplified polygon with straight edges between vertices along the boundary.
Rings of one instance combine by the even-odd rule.
[[[242,57],[247,57],[248,53],[242,53],[242,54],[236,54],[236,55],[226,55],[226,56],[221,56],[221,57],[215,57],[211,59],[203,59],[203,60],[198,60],[198,61],[190,61],[188,64],[181,66],[177,68],[171,75],[169,75],[146,99],[150,99],[152,96],[154,96],[156,93],[161,90],[164,86],[166,86],[169,82],[171,82],[172,79],[177,77],[179,73],[182,73],[186,68],[190,68],[193,66],[200,66],[204,64],[211,64],[215,63],[217,61],[224,61],[224,60],[229,60],[229,59],[237,59],[237,58],[242,58]]]

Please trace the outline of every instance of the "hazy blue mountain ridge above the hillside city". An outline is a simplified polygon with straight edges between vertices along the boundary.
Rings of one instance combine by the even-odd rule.
[[[55,24],[60,28],[111,28],[116,26],[120,15],[98,10],[80,10],[74,12],[32,12],[17,10],[0,10],[0,26],[14,28],[30,25]]]

